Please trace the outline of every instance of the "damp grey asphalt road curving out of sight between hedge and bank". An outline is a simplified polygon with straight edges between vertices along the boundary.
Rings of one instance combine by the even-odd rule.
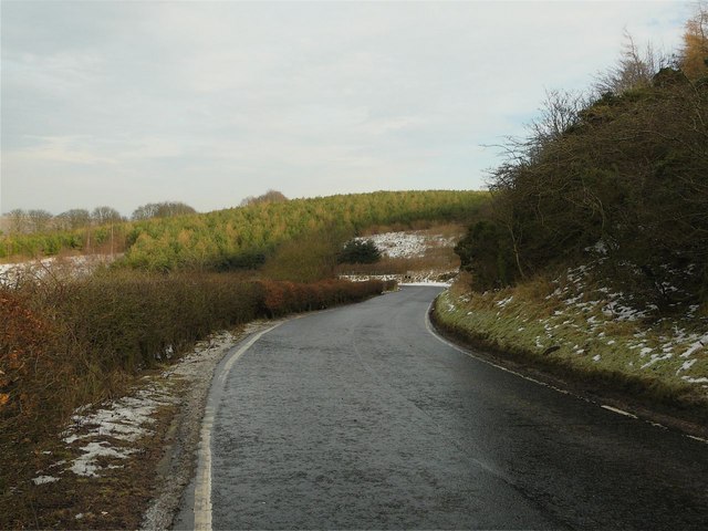
[[[438,292],[241,345],[181,524],[196,502],[212,529],[706,529],[708,445],[444,343],[425,320]]]

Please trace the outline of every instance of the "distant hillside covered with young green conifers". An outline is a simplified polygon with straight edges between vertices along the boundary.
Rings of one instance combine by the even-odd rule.
[[[13,235],[0,258],[60,252],[124,252],[123,266],[146,270],[230,270],[262,266],[285,241],[324,231],[341,241],[375,226],[465,221],[488,201],[479,191],[379,191],[282,202],[168,219]]]

